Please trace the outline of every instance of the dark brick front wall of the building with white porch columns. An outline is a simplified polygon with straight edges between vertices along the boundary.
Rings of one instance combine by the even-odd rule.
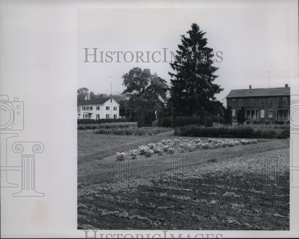
[[[235,111],[235,116],[233,115],[233,119],[237,119],[237,111],[241,109],[242,106],[245,106],[245,108],[253,107],[258,108],[258,119],[261,119],[260,117],[260,110],[265,110],[264,117],[262,119],[265,120],[272,120],[273,118],[276,118],[276,108],[277,104],[280,104],[279,102],[283,101],[283,98],[289,99],[288,96],[277,96],[277,97],[243,97],[243,98],[227,98],[227,106],[231,106],[231,109]],[[252,99],[253,102],[250,104],[250,99]],[[270,101],[272,99],[272,103]],[[233,105],[233,100],[235,100],[235,104]],[[242,100],[242,104],[240,104],[239,100]],[[264,104],[262,104],[262,100],[264,100]],[[254,107],[256,106],[256,107]],[[269,118],[269,111],[273,112],[273,118]]]

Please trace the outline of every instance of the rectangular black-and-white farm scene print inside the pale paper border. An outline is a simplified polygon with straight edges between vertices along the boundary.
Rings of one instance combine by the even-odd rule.
[[[290,21],[78,9],[77,229],[290,230]]]

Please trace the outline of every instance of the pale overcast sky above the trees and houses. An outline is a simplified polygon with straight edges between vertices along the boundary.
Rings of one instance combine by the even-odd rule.
[[[213,65],[219,67],[214,73],[219,77],[213,82],[224,91],[215,95],[222,99],[232,89],[284,87],[292,77],[291,67],[291,19],[287,8],[194,8],[194,9],[79,9],[77,11],[77,87],[86,87],[95,94],[122,92],[123,74],[134,67],[148,68],[151,73],[170,83],[170,64],[163,61],[163,49],[175,52],[181,43],[181,35],[197,23],[208,39],[207,47],[221,51],[223,60]],[[296,42],[296,44],[298,44]],[[103,51],[131,51],[134,60],[125,62],[122,55],[117,61],[113,55],[111,63],[92,62],[93,56],[85,61],[84,48],[88,54],[98,48]],[[155,63],[150,60],[136,62],[135,51],[155,54]],[[100,61],[99,53],[97,60]],[[130,61],[131,55],[126,55]],[[270,72],[268,72],[270,71]]]

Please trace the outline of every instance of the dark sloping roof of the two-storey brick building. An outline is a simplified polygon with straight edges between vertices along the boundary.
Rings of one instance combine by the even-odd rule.
[[[290,87],[231,90],[226,98],[290,95]]]

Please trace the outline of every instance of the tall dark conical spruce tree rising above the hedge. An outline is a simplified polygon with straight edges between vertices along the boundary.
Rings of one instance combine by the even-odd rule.
[[[215,94],[223,91],[213,84],[218,77],[213,73],[218,69],[213,64],[213,49],[206,47],[207,39],[196,23],[187,31],[189,37],[181,35],[181,45],[176,51],[176,60],[170,63],[176,73],[171,76],[170,97],[180,115],[198,115],[201,107],[206,111],[208,102],[215,101]]]

